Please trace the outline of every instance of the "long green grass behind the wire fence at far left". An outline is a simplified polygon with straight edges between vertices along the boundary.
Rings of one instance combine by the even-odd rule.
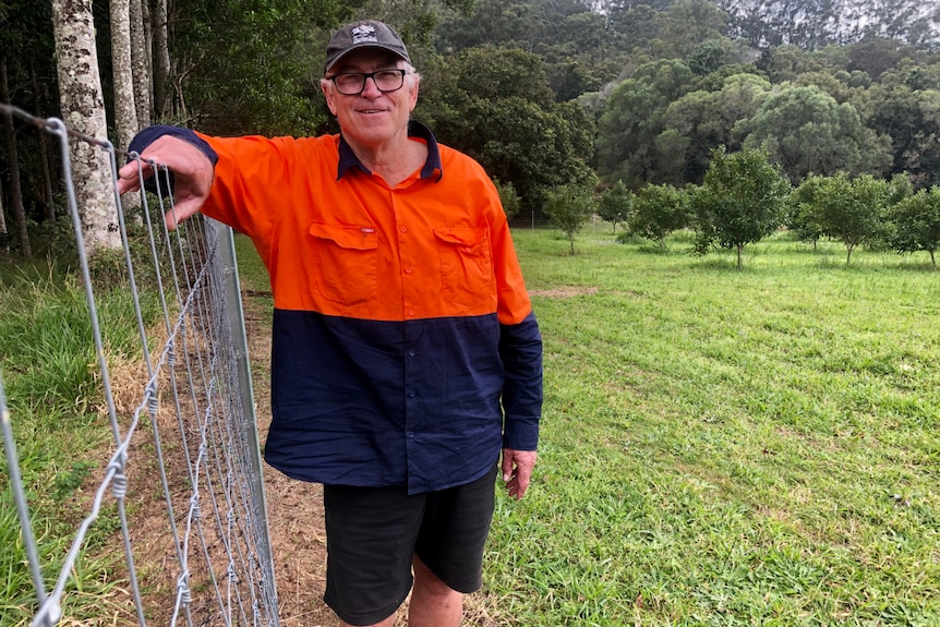
[[[126,285],[98,286],[96,306],[106,353],[141,359],[140,336]],[[157,312],[144,298],[147,319]],[[0,267],[0,375],[3,377],[32,524],[49,592],[104,477],[113,441],[84,288],[71,273],[47,264]],[[0,461],[0,626],[28,624],[36,595],[26,564],[20,521]],[[72,619],[115,615],[126,605],[115,580],[122,557],[113,505],[89,530],[63,598]],[[124,582],[125,583],[125,582]],[[125,610],[119,610],[125,613]]]

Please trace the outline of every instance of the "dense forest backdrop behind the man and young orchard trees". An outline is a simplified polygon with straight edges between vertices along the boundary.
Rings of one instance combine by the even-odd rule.
[[[108,133],[121,146],[111,49],[121,3],[89,4]],[[145,50],[134,61],[137,128],[335,132],[316,83],[325,41],[351,19],[377,17],[399,29],[422,74],[414,117],[540,218],[566,186],[699,185],[718,149],[760,149],[794,186],[840,173],[901,176],[912,192],[940,183],[940,7],[917,0],[130,5]],[[0,0],[0,100],[68,118],[50,5]],[[57,165],[41,133],[10,117],[4,125],[2,230],[43,238],[62,212]],[[28,246],[5,239],[13,252]]]

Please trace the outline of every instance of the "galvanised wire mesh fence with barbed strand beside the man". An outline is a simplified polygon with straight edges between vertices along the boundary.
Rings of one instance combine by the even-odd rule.
[[[97,354],[101,393],[113,435],[113,453],[79,526],[71,548],[47,588],[32,528],[29,503],[13,435],[7,394],[0,379],[3,447],[9,483],[16,503],[22,539],[36,595],[32,625],[52,627],[63,622],[63,596],[75,577],[75,564],[84,550],[89,528],[99,518],[106,502],[113,501],[120,520],[121,550],[126,563],[129,595],[136,622],[147,618],[169,625],[254,625],[279,627],[277,591],[267,527],[267,508],[262,478],[261,448],[255,427],[254,397],[248,360],[248,341],[239,291],[234,240],[230,228],[196,216],[170,232],[164,213],[173,210],[168,193],[169,171],[149,164],[157,172],[157,193],[141,193],[141,217],[147,233],[149,260],[146,270],[155,277],[166,339],[149,346],[153,329],[146,329],[135,272],[144,269],[131,254],[124,208],[117,193],[117,158],[113,146],[70,131],[58,119],[38,119],[15,107],[0,104],[0,110],[35,124],[59,140],[69,210],[80,255],[88,316]],[[80,219],[69,142],[86,144],[107,153],[118,206],[118,224],[124,253],[124,268],[133,296],[140,333],[141,354],[147,381],[141,383],[133,415],[118,415],[101,324]],[[123,155],[122,155],[123,156]],[[130,158],[140,159],[136,154]],[[142,181],[143,183],[143,181]],[[142,185],[143,186],[143,185]],[[158,210],[150,213],[150,204]],[[140,258],[142,255],[136,255]],[[138,267],[135,268],[135,263]],[[152,288],[150,288],[152,289]],[[161,334],[160,334],[161,335]],[[153,357],[152,357],[153,355]],[[2,365],[2,363],[0,363]],[[149,422],[152,434],[142,424]],[[123,423],[123,425],[122,425]],[[142,441],[149,445],[140,446]],[[128,516],[125,497],[134,485],[128,474],[132,455],[152,449],[160,477],[167,524],[167,546],[160,564],[148,571],[173,578],[164,588],[170,594],[144,593],[136,563],[134,523]],[[136,478],[137,483],[142,479]],[[110,499],[110,501],[109,501]],[[136,538],[141,534],[137,533]],[[117,543],[117,541],[116,541]],[[153,558],[153,556],[150,556]],[[147,586],[153,589],[152,581]],[[157,586],[159,587],[159,586]],[[131,612],[129,612],[131,614]],[[95,624],[104,624],[106,617]],[[108,617],[110,623],[111,618]],[[70,620],[70,624],[77,624]]]

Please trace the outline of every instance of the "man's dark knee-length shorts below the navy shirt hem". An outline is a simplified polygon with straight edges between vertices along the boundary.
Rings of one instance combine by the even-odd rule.
[[[454,590],[479,590],[495,481],[494,466],[466,485],[410,496],[399,485],[324,485],[323,600],[350,625],[384,620],[411,590],[414,555]]]

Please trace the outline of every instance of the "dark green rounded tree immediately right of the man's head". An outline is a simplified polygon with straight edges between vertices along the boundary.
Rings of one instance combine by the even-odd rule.
[[[415,117],[511,181],[523,207],[541,206],[551,189],[593,180],[593,120],[575,103],[554,101],[538,56],[471,48],[437,58],[425,79]]]

